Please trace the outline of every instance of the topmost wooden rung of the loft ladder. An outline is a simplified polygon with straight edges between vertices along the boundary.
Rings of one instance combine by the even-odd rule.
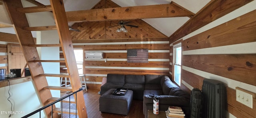
[[[52,6],[51,5],[34,6],[34,7],[26,7],[26,8],[17,8],[16,10],[22,13],[51,12]]]

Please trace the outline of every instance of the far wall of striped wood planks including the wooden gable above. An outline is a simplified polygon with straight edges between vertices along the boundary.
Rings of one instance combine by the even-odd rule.
[[[94,8],[120,7],[111,0],[102,0]],[[169,39],[143,20],[129,20],[130,25],[139,28],[128,27],[127,33],[116,32],[115,26],[119,21],[107,22],[82,22],[76,23],[74,29],[80,32],[70,31],[75,48],[82,48],[86,52],[103,52],[104,59],[85,59],[84,74],[89,89],[100,89],[102,78],[108,73],[117,74],[169,74]],[[127,63],[127,49],[148,49],[148,63]],[[60,53],[63,58],[63,53]],[[105,61],[106,60],[106,61]],[[62,68],[65,67],[61,63]]]

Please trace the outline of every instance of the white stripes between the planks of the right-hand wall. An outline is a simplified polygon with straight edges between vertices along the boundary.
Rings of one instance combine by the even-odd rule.
[[[227,14],[226,16],[223,16],[222,18],[219,18],[218,20],[182,37],[181,39],[186,40],[194,35],[197,35],[199,33],[202,33],[206,30],[210,30],[211,28],[214,28],[216,26],[219,26],[220,24],[223,24],[225,22],[228,22],[232,19],[235,19],[239,16],[242,16],[248,12],[251,12],[253,10],[256,10],[256,1],[254,0],[253,2],[250,2],[249,4],[246,4],[245,6],[231,12],[230,14]],[[172,45],[172,44],[171,44]],[[211,48],[205,48],[205,49],[196,49],[196,50],[190,50],[190,51],[183,51],[183,55],[187,54],[193,54],[193,55],[203,55],[203,54],[248,54],[248,53],[256,53],[256,42],[252,43],[241,43],[241,44],[236,44],[236,45],[226,45],[226,46],[220,46],[220,47],[211,47]],[[242,49],[242,50],[237,50],[237,49]],[[189,71],[191,73],[194,73],[196,75],[199,75],[204,78],[208,79],[216,79],[218,81],[221,81],[225,83],[228,87],[232,89],[236,89],[235,87],[240,87],[248,91],[252,91],[256,93],[256,86],[249,85],[246,83],[242,83],[239,81],[235,81],[232,79],[228,79],[225,77],[221,77],[218,75],[214,75],[211,73],[207,73],[204,71],[200,71],[197,69],[192,69],[190,67],[182,66],[182,69]],[[182,81],[182,83],[188,87],[190,90],[193,89],[192,86],[190,86],[186,81]],[[227,112],[226,118],[236,118],[234,115],[230,114]]]

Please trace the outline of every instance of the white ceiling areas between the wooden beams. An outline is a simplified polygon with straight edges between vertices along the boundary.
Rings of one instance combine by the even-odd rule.
[[[44,5],[50,5],[49,0],[36,0]],[[66,11],[89,10],[96,5],[100,0],[63,0]],[[156,4],[170,4],[171,1],[180,6],[190,10],[196,14],[203,8],[210,0],[112,0],[121,7],[127,6],[145,6]],[[0,5],[1,6],[1,5]],[[2,16],[2,13],[0,14]],[[178,28],[186,23],[190,18],[176,17],[176,18],[151,18],[142,19],[152,27],[156,28],[164,35],[170,37]],[[1,19],[0,19],[1,20]],[[0,21],[1,22],[1,21]],[[69,24],[70,25],[70,24]],[[1,30],[0,30],[1,31]]]

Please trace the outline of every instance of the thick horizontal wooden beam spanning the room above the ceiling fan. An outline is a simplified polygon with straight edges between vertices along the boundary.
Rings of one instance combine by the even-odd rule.
[[[144,18],[192,17],[194,14],[177,4],[103,8],[66,12],[68,22],[134,20]]]

